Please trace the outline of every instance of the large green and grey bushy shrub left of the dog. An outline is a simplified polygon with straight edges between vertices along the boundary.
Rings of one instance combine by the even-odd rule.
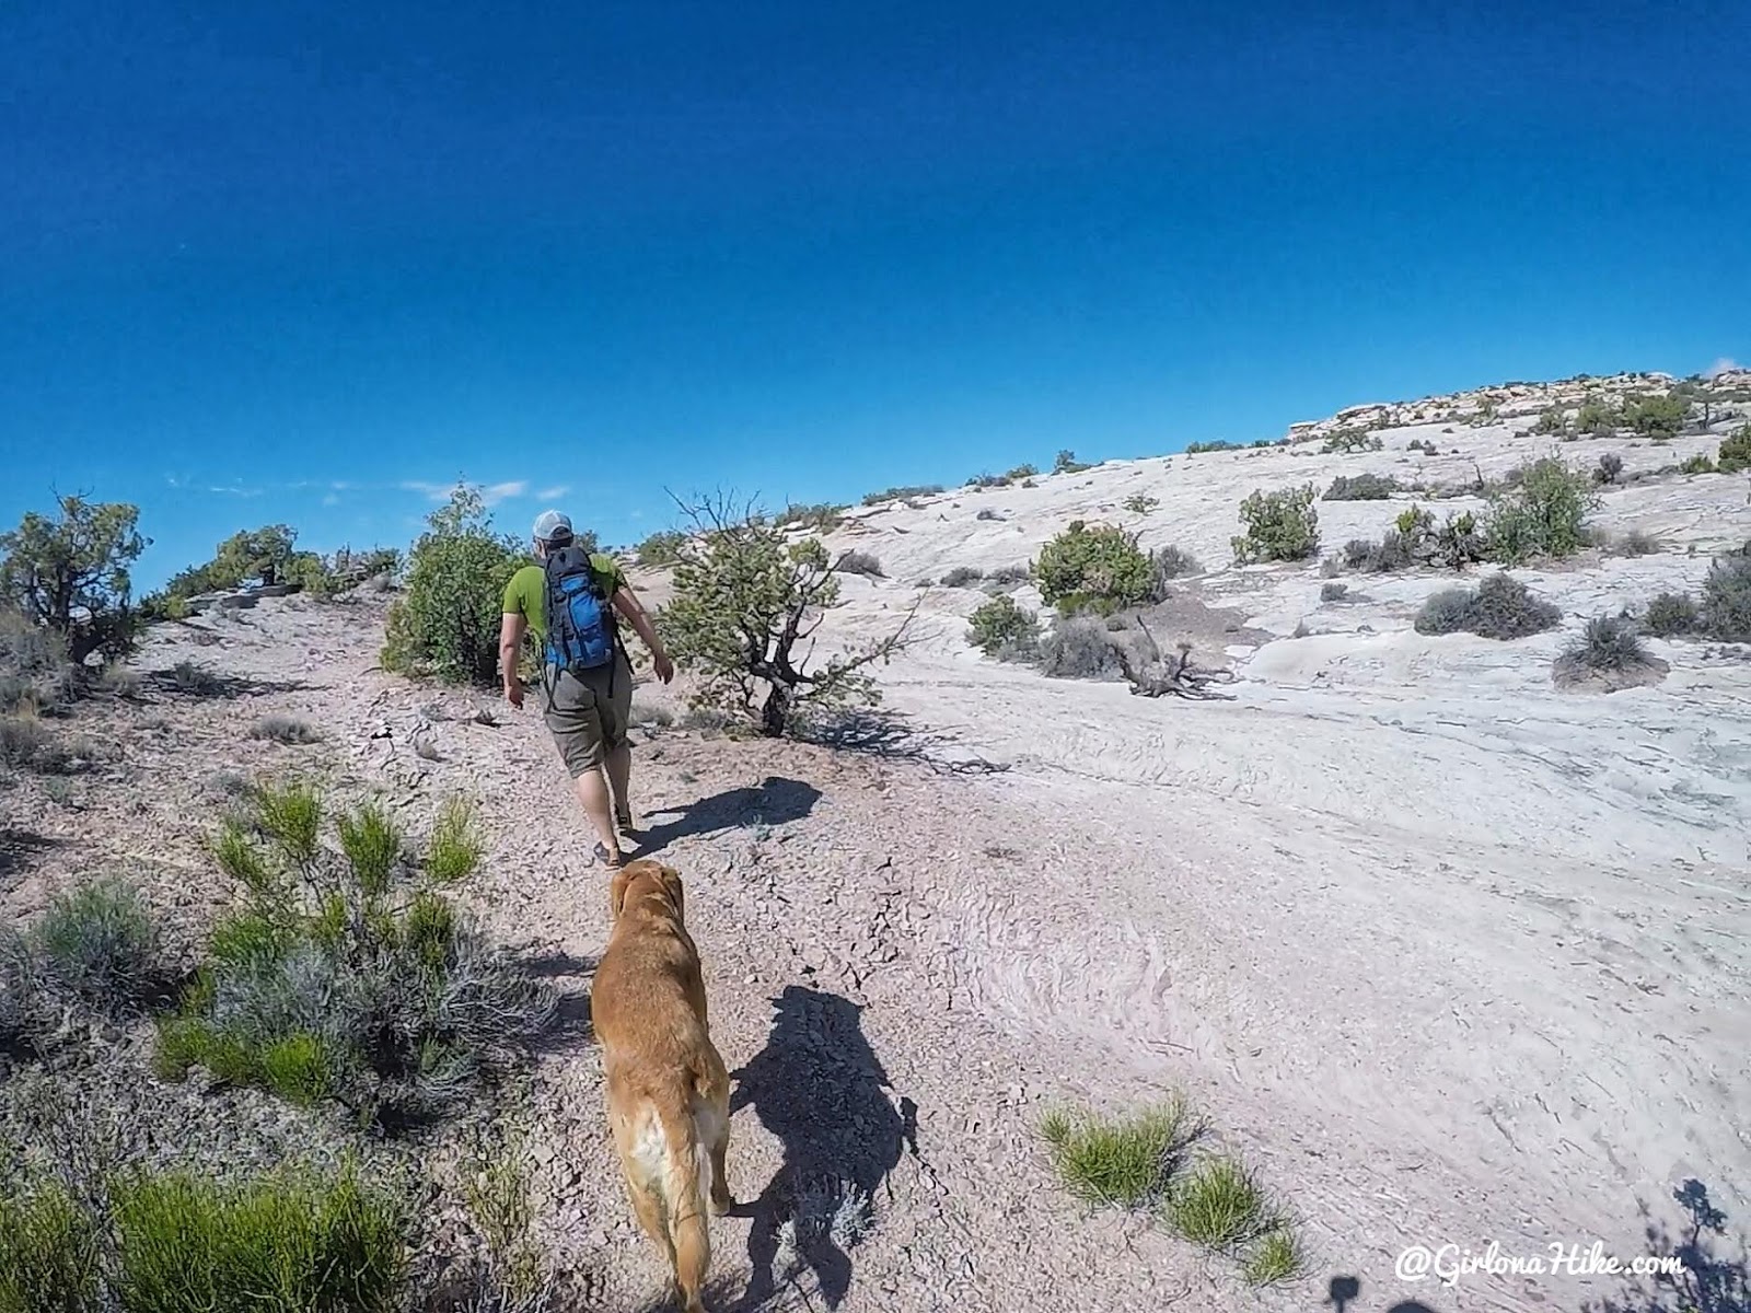
[[[341,814],[340,853],[320,818],[313,791],[263,788],[247,823],[221,832],[242,902],[159,1024],[159,1070],[338,1099],[385,1127],[431,1119],[522,1056],[555,1001],[440,893],[480,860],[464,807],[440,819],[424,868],[380,809]]]

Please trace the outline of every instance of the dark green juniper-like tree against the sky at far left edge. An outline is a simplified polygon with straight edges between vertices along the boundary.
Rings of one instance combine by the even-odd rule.
[[[151,544],[140,509],[123,502],[56,497],[60,516],[26,511],[0,534],[0,606],[14,607],[67,644],[67,656],[124,656],[140,618],[130,567]]]

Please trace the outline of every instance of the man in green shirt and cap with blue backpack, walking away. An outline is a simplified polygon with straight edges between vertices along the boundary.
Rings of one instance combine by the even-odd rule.
[[[504,588],[499,625],[504,697],[513,707],[524,706],[517,653],[524,630],[531,628],[541,644],[543,720],[576,783],[583,814],[595,826],[601,840],[595,856],[615,870],[623,861],[620,832],[636,830],[627,793],[632,662],[620,641],[616,616],[644,639],[658,679],[669,683],[674,664],[620,565],[606,553],[578,546],[569,516],[543,511],[536,516],[534,539],[541,564],[524,565]]]

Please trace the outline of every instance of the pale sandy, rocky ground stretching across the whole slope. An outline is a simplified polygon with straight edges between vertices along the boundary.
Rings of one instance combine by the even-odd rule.
[[[1406,453],[1411,438],[1462,455]],[[1443,1288],[1397,1280],[1394,1260],[1408,1245],[1548,1255],[1593,1239],[1630,1259],[1648,1248],[1641,1210],[1676,1224],[1686,1178],[1744,1232],[1751,653],[1653,641],[1670,674],[1611,695],[1558,692],[1550,665],[1588,616],[1693,588],[1711,551],[1751,537],[1747,483],[1607,490],[1599,523],[1665,550],[1520,572],[1565,621],[1509,644],[1411,630],[1450,576],[1350,578],[1348,599],[1320,602],[1313,567],[1227,565],[1233,508],[1254,487],[1362,471],[1455,483],[1548,441],[1424,425],[1387,445],[1175,455],[858,513],[830,541],[872,551],[886,578],[847,579],[833,625],[842,641],[881,634],[923,599],[921,641],[881,671],[921,746],[641,735],[646,849],[688,881],[713,1028],[739,1071],[730,1171],[751,1206],[716,1225],[721,1306],[1571,1309],[1625,1283]],[[1712,446],[1560,453],[1616,450],[1634,473]],[[1159,506],[1131,515],[1133,494]],[[1320,502],[1327,550],[1378,536],[1408,501]],[[1073,518],[1215,567],[1185,592],[1243,639],[1217,651],[1198,635],[1233,664],[1233,702],[988,662],[963,621],[982,593],[916,586],[1026,562]],[[660,578],[636,581],[660,600]],[[494,830],[482,912],[585,989],[606,881],[539,720],[501,707],[480,725],[483,699],[383,676],[378,634],[373,604],[301,599],[154,630],[145,669],[194,660],[261,683],[161,695],[149,730],[138,709],[82,711],[123,762],[79,783],[74,805],[28,779],[0,793],[9,832],[44,840],[7,858],[7,909],[30,912],[107,856],[159,872],[154,898],[198,924],[217,898],[198,874],[203,779],[305,763],[413,814],[457,790],[480,798]],[[639,697],[678,706],[674,690]],[[308,716],[324,741],[243,737],[270,711]],[[618,1196],[595,1052],[543,1059],[538,1085],[555,1252],[599,1267],[606,1308],[632,1308],[658,1294],[658,1267]],[[1304,1278],[1250,1290],[1231,1262],[1145,1220],[1082,1215],[1058,1190],[1033,1136],[1044,1106],[1166,1089],[1189,1092],[1303,1220]],[[772,1225],[798,1180],[825,1175],[872,1190],[868,1236],[774,1285]]]

